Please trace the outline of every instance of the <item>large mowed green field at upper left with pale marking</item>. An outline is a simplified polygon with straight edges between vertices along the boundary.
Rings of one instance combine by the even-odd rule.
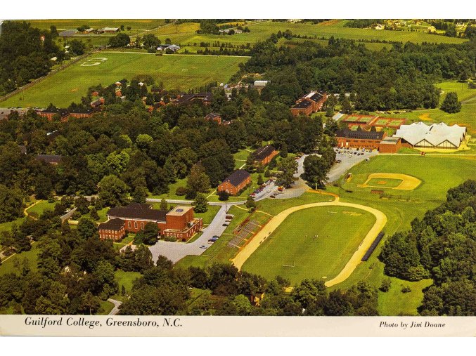
[[[1,106],[46,107],[53,103],[65,107],[73,101],[79,103],[89,86],[110,85],[124,78],[130,80],[137,74],[150,74],[157,82],[162,81],[165,88],[186,91],[210,81],[227,81],[238,71],[238,63],[245,60],[246,57],[98,53],[14,95]],[[95,62],[100,64],[91,65]]]

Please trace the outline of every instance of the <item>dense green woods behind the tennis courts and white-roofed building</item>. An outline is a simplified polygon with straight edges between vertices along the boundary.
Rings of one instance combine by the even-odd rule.
[[[468,79],[475,72],[475,42],[392,44],[370,51],[362,44],[331,38],[323,47],[305,41],[292,48],[272,39],[257,43],[242,72],[266,72],[262,96],[291,105],[311,88],[356,93],[356,110],[432,108],[439,80]]]

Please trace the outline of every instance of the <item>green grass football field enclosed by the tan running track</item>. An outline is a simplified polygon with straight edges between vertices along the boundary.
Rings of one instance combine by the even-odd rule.
[[[347,206],[292,213],[247,259],[243,270],[267,279],[280,275],[292,283],[304,278],[332,279],[374,223],[371,213]]]

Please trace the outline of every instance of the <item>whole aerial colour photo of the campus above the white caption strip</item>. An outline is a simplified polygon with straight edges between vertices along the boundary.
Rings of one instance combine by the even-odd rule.
[[[0,20],[0,314],[476,315],[476,20]]]

